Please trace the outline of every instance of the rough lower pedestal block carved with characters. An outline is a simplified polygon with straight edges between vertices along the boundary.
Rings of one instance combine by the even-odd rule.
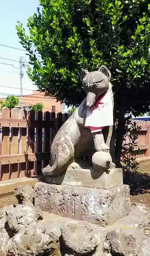
[[[106,226],[125,217],[130,209],[130,187],[110,189],[35,184],[35,206],[52,214]]]

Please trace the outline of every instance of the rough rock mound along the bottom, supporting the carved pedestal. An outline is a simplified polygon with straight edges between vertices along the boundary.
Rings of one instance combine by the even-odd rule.
[[[19,186],[15,195],[21,204],[0,211],[0,256],[150,255],[150,212],[145,205],[132,204],[129,215],[102,227],[48,212],[37,218],[38,209],[31,204],[35,194],[31,192],[29,186]],[[26,211],[29,214],[23,214]]]

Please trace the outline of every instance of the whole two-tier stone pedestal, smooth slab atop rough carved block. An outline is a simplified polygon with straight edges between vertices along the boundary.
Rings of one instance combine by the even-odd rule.
[[[100,174],[94,169],[68,169],[35,185],[35,206],[51,214],[106,226],[125,217],[130,188],[122,184],[122,170]],[[61,184],[61,185],[60,185]]]

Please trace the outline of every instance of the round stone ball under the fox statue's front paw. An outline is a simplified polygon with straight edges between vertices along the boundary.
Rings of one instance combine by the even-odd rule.
[[[109,152],[96,152],[92,156],[92,164],[98,172],[105,172],[111,167],[112,157]]]

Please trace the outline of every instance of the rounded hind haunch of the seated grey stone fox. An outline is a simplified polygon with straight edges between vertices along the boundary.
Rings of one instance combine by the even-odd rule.
[[[60,137],[51,148],[52,165],[42,169],[44,176],[58,176],[74,161],[74,145],[67,137]]]

